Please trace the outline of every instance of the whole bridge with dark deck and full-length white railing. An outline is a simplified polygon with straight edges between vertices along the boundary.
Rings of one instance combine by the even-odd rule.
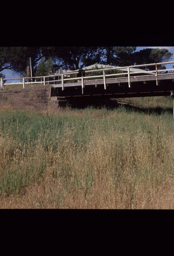
[[[22,82],[10,84],[23,84],[23,88],[25,88],[25,84],[29,83],[32,85],[35,83],[43,85],[51,84],[51,97],[62,97],[69,100],[89,99],[89,97],[111,99],[172,96],[174,98],[174,68],[159,68],[160,65],[165,64],[174,64],[174,62],[150,63],[95,70],[84,69],[83,76],[80,77],[78,76],[78,71],[50,76],[24,77],[19,78]],[[137,69],[138,67],[145,67],[145,70]],[[151,67],[150,69],[152,70],[148,70],[148,67]],[[135,71],[136,69],[137,72]],[[120,70],[122,70],[122,73],[120,73]],[[29,79],[31,79],[31,81],[29,81]],[[37,81],[35,81],[35,79],[37,79]],[[1,89],[4,89],[8,84],[9,83],[3,83],[3,79],[1,78]]]

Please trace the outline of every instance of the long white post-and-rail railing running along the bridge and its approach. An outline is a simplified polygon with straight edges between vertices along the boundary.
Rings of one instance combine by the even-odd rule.
[[[70,75],[74,75],[79,73],[78,71],[75,72],[67,72],[67,73],[62,73],[62,74],[56,74],[56,75],[49,75],[49,76],[34,76],[34,77],[23,77],[23,78],[12,78],[12,79],[0,79],[0,88],[2,90],[4,90],[4,86],[5,85],[12,85],[12,84],[23,84],[23,88],[25,88],[26,84],[31,84],[31,86],[33,84],[43,84],[46,85],[46,83],[50,83],[50,82],[60,82],[61,83],[61,87],[62,90],[64,90],[64,81],[71,81],[71,80],[80,80],[81,81],[81,86],[82,86],[82,94],[83,94],[83,88],[84,88],[84,79],[89,79],[89,78],[99,78],[102,77],[103,78],[103,83],[104,83],[104,89],[106,90],[106,77],[109,76],[120,76],[120,75],[127,75],[128,77],[128,87],[131,87],[131,74],[140,74],[140,73],[154,73],[154,76],[156,76],[156,83],[158,85],[158,75],[159,72],[164,72],[164,71],[174,71],[174,68],[170,68],[170,69],[158,69],[158,65],[165,65],[165,64],[174,64],[174,61],[170,61],[170,62],[160,62],[160,63],[151,63],[151,64],[141,64],[141,65],[134,65],[134,66],[126,66],[126,67],[114,67],[114,68],[105,68],[105,69],[97,69],[97,70],[83,70],[83,72],[85,73],[91,73],[91,72],[101,72],[103,71],[102,75],[97,75],[97,76],[82,76],[82,77],[73,77],[73,78],[65,78],[65,76],[70,76]],[[138,71],[138,72],[131,72],[130,68],[136,68],[136,67],[148,67],[148,66],[154,66],[154,70],[142,70],[142,71]],[[113,73],[113,74],[106,74],[107,70],[120,70],[120,69],[127,69],[127,72],[124,73]],[[166,73],[167,75],[168,73]],[[55,80],[55,78],[58,76],[58,79]],[[153,75],[145,75],[145,76],[153,76]],[[53,78],[54,80],[50,80],[49,78]],[[59,79],[59,77],[61,77],[61,79]],[[31,79],[31,81],[29,81]],[[35,81],[35,79],[40,79],[40,81]],[[48,79],[48,80],[47,80]],[[15,83],[4,83],[4,80],[22,80],[22,82],[15,82]],[[26,81],[28,80],[28,81]],[[34,80],[34,81],[33,81]],[[46,81],[47,80],[47,81]]]

